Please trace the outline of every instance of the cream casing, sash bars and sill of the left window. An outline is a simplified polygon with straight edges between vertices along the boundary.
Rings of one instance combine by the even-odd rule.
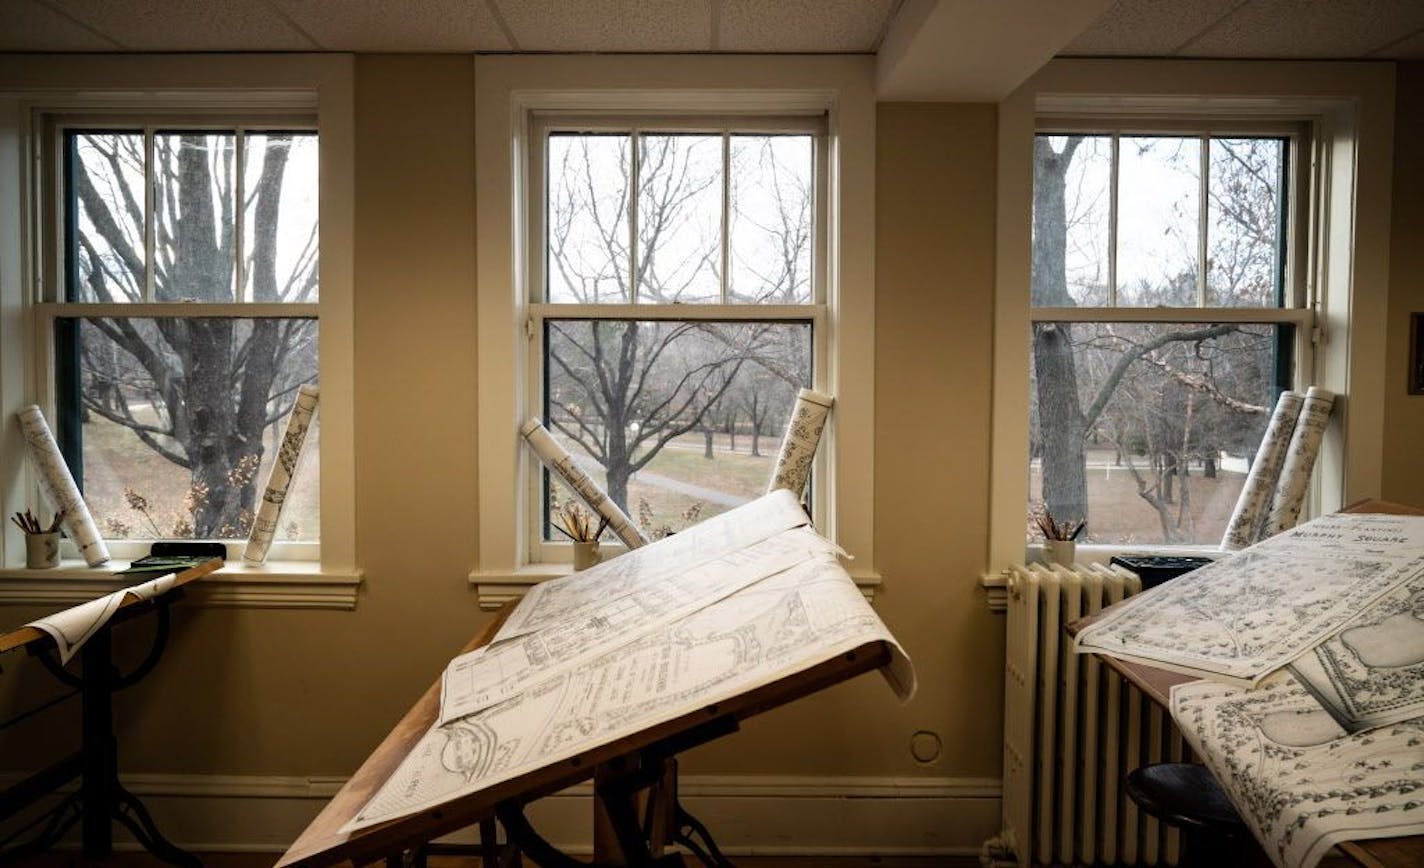
[[[349,57],[225,58],[6,58],[0,60],[0,413],[6,418],[38,404],[54,418],[53,323],[61,316],[315,316],[319,320],[322,383],[322,514],[319,544],[273,546],[261,568],[239,566],[242,544],[229,545],[229,565],[208,579],[212,605],[340,608],[356,600],[360,571],[355,548],[355,433],[352,340],[352,171],[353,68]],[[53,179],[63,147],[58,124],[107,128],[147,125],[234,128],[308,127],[319,134],[319,300],[300,305],[91,305],[63,300],[63,202]],[[288,124],[286,121],[290,121]],[[46,152],[48,149],[48,154]],[[33,471],[14,425],[4,428],[0,455],[24,471],[7,478],[0,501],[38,507]],[[66,561],[46,582],[23,569],[24,545],[6,529],[0,599],[74,602],[103,589],[107,576],[147,542],[115,541],[114,561],[85,568]],[[236,561],[236,562],[234,562]]]

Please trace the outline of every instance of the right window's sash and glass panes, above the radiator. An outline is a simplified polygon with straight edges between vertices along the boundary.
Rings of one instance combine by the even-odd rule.
[[[1031,514],[1087,518],[1088,542],[1219,542],[1307,349],[1287,268],[1293,149],[1284,135],[1035,137]]]

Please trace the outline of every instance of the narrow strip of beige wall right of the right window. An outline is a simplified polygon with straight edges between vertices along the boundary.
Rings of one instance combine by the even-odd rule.
[[[1400,64],[1394,84],[1394,209],[1386,360],[1381,497],[1424,507],[1424,396],[1405,391],[1410,313],[1424,312],[1424,63]]]

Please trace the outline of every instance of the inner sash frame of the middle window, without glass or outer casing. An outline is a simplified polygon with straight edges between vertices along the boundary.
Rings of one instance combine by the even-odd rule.
[[[547,248],[547,226],[545,226],[545,211],[547,202],[544,189],[545,181],[545,147],[548,142],[550,132],[560,131],[607,131],[607,132],[706,132],[709,135],[722,134],[740,134],[740,132],[755,132],[755,134],[802,134],[812,135],[815,139],[813,147],[813,203],[812,203],[812,219],[815,221],[816,238],[813,242],[812,253],[812,299],[805,305],[733,305],[733,303],[688,303],[688,305],[668,305],[658,302],[644,302],[638,299],[638,293],[632,292],[632,297],[628,303],[621,305],[575,305],[575,303],[558,303],[543,300],[543,292],[545,289],[545,256],[543,255]],[[725,141],[725,139],[723,139]],[[692,322],[692,320],[748,320],[748,322],[786,322],[786,323],[806,323],[812,326],[812,383],[807,386],[812,388],[824,388],[826,383],[826,322],[827,322],[827,305],[826,305],[826,118],[824,112],[812,115],[782,115],[775,118],[768,117],[740,117],[740,118],[725,118],[719,115],[706,117],[658,117],[658,115],[642,115],[642,117],[619,117],[619,115],[561,115],[561,114],[547,114],[535,112],[531,117],[530,137],[528,137],[528,203],[527,213],[530,218],[528,225],[528,259],[525,268],[528,269],[527,286],[530,287],[531,296],[534,296],[528,303],[528,356],[525,359],[525,370],[530,371],[530,383],[540,384],[544,381],[545,370],[545,346],[544,346],[544,324],[547,320],[565,320],[565,319],[587,319],[587,320],[678,320],[678,322]],[[729,184],[731,178],[723,178],[723,185]],[[723,208],[729,208],[726,203],[726,194],[723,191]],[[722,255],[728,255],[728,245],[731,240],[722,238]],[[722,283],[723,292],[731,280],[728,269],[722,269]],[[544,394],[537,386],[528,390],[528,406],[525,408],[525,417],[544,417]],[[827,452],[829,450],[819,450],[816,454],[816,461],[813,465],[815,478],[820,478],[827,472]],[[537,462],[530,462],[528,465],[528,480],[525,481],[525,504],[528,514],[524,517],[525,526],[531,528],[528,536],[528,562],[530,563],[572,563],[574,546],[567,541],[545,541],[543,534],[533,531],[540,528],[544,521],[543,515],[543,471]],[[817,526],[824,526],[829,514],[829,498],[824,495],[824,487],[813,485],[813,502],[812,502],[812,518]],[[624,551],[621,542],[604,542],[602,549],[608,554],[617,554]]]

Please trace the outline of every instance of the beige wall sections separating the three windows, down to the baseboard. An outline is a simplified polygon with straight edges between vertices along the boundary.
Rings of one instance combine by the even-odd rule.
[[[120,700],[125,770],[349,774],[487,618],[466,581],[478,521],[473,64],[360,57],[355,108],[359,605],[184,608],[164,666]],[[988,521],[994,108],[887,105],[879,121],[880,477],[866,497],[884,575],[876,606],[914,657],[920,694],[899,706],[879,677],[863,677],[749,721],[691,756],[691,771],[998,770],[1002,620],[977,586]],[[928,464],[910,461],[914,452]],[[0,707],[50,690],[38,667],[17,663],[0,679],[11,694],[0,693]],[[0,766],[58,753],[70,720],[60,711],[4,733]],[[909,751],[921,729],[946,746],[927,767]]]

